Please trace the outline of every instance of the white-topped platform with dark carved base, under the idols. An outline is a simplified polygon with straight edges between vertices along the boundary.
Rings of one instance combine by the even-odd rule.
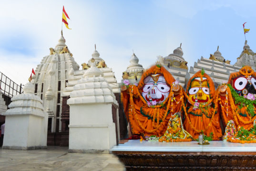
[[[140,142],[130,140],[112,152],[126,171],[255,171],[256,144],[213,141]]]

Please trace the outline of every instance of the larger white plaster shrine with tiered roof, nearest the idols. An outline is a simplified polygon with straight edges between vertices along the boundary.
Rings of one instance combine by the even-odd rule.
[[[118,120],[118,103],[94,58],[83,76],[73,86],[67,101],[69,152],[109,152],[118,140],[113,123],[113,114]]]

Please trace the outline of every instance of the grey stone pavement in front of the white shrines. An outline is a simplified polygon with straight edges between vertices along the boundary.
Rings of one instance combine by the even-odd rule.
[[[70,153],[68,147],[0,149],[0,171],[125,171],[113,154]]]

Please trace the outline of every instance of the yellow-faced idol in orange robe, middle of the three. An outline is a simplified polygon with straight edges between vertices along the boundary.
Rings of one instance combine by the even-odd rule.
[[[214,98],[215,86],[213,80],[202,69],[190,78],[186,88],[186,98],[182,100],[184,109],[184,129],[193,138],[198,138],[200,133],[219,140],[222,137],[219,123],[217,100]]]

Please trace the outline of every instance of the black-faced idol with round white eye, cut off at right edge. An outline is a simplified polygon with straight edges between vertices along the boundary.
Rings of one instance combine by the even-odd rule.
[[[251,66],[231,73],[227,84],[219,87],[222,118],[226,126],[230,120],[239,127],[250,130],[256,119],[256,73]]]

